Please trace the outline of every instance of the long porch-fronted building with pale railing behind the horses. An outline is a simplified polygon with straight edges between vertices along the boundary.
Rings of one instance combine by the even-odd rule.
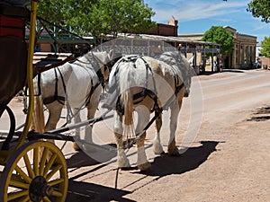
[[[141,34],[118,34],[118,39],[115,39],[111,35],[103,36],[101,39],[83,39],[72,36],[72,34],[64,34],[60,37],[55,37],[50,34],[49,31],[43,31],[40,34],[40,39],[37,43],[38,51],[45,52],[72,52],[76,53],[76,47],[79,49],[79,54],[85,52],[82,49],[89,50],[91,47],[97,45],[95,42],[100,41],[98,44],[102,45],[103,49],[116,48],[117,54],[143,54],[149,56],[155,56],[162,51],[168,51],[171,49],[178,49],[181,51],[187,59],[192,63],[195,69],[199,69],[197,72],[204,72],[206,66],[206,54],[212,53],[219,55],[220,44],[214,44],[211,42],[201,41],[202,34],[194,39],[181,38],[177,34],[178,21],[174,16],[171,16],[170,21],[166,24],[157,23],[157,27],[152,31],[146,31]],[[26,33],[26,36],[28,34]],[[125,41],[128,43],[123,46],[121,40],[129,39]],[[108,41],[114,40],[112,44]],[[121,43],[118,44],[118,43]],[[146,45],[146,46],[145,46]]]

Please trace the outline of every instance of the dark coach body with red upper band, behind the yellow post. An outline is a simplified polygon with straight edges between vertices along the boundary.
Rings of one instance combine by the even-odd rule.
[[[28,19],[29,12],[25,8],[0,4],[0,114],[26,83],[24,22]]]

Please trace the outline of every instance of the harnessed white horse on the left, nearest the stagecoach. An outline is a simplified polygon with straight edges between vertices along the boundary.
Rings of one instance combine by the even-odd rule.
[[[80,110],[83,108],[87,109],[87,119],[94,118],[102,83],[110,74],[107,65],[112,61],[112,54],[112,50],[109,53],[90,51],[73,63],[41,73],[42,101],[49,110],[45,131],[57,127],[64,105],[67,108],[67,122],[71,119],[75,123],[81,122]],[[76,128],[76,136],[80,136],[80,128]],[[85,136],[80,138],[92,142],[92,127],[85,127]],[[79,149],[76,143],[73,146]]]

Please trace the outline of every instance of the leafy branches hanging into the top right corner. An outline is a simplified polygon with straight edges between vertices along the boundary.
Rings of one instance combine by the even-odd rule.
[[[261,17],[262,22],[270,22],[270,1],[252,0],[247,4],[247,12],[252,13],[254,17]]]

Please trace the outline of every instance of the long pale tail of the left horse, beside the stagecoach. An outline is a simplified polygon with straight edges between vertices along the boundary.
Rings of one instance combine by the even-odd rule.
[[[40,94],[38,96],[34,96],[34,104],[32,111],[32,119],[31,119],[31,128],[35,132],[44,133],[45,132],[45,121],[44,121],[44,110],[43,110],[43,100],[41,93],[39,92],[40,83],[37,81],[37,77],[34,78],[34,94]]]

